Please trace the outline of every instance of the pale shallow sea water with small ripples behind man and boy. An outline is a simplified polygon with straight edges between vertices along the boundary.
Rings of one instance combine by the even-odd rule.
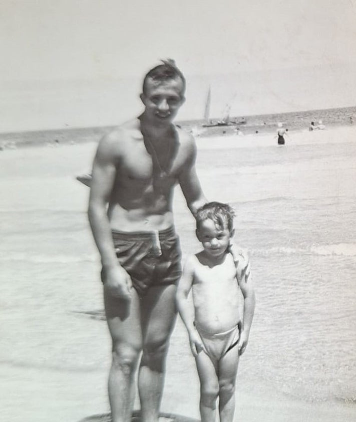
[[[197,170],[208,198],[236,208],[235,241],[250,252],[257,305],[238,388],[354,402],[356,141],[315,139],[203,146]],[[0,158],[0,364],[78,373],[110,364],[89,191],[74,179],[94,150],[43,147]],[[199,244],[179,189],[175,211],[185,257]],[[167,365],[168,389],[182,371],[196,377],[179,321]]]

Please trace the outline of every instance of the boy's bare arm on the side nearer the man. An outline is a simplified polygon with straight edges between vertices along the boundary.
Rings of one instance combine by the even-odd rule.
[[[179,280],[176,304],[180,317],[188,331],[190,348],[194,356],[197,356],[201,350],[205,351],[205,347],[200,339],[200,336],[195,330],[194,322],[188,304],[188,295],[192,288],[194,280],[194,256],[190,256],[183,268],[182,276]]]

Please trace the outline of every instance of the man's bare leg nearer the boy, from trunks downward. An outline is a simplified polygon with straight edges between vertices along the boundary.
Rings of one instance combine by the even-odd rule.
[[[169,338],[177,311],[176,287],[152,286],[142,298],[143,354],[138,388],[143,422],[157,422],[162,398]]]

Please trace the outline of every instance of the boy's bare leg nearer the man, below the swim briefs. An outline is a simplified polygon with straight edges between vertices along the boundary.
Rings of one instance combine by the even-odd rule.
[[[210,357],[201,351],[195,358],[200,380],[200,417],[201,422],[215,422],[216,400],[219,394],[219,382],[216,368]]]

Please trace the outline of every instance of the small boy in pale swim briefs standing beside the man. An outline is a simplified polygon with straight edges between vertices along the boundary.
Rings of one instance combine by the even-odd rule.
[[[255,307],[249,268],[242,271],[242,252],[235,259],[230,253],[233,217],[227,204],[210,202],[198,209],[196,235],[204,249],[188,257],[177,289],[178,311],[200,379],[202,422],[215,422],[217,397],[220,422],[233,420],[238,360],[247,346]],[[194,321],[187,300],[191,288]],[[244,298],[242,321],[239,288]]]

